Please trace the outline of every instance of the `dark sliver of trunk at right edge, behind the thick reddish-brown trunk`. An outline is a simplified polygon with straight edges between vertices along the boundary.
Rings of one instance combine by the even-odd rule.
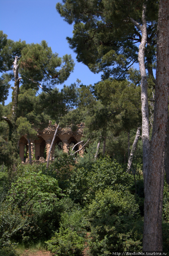
[[[166,181],[169,185],[169,116],[166,128],[166,139],[165,139],[165,149],[164,149],[164,166],[166,172]]]

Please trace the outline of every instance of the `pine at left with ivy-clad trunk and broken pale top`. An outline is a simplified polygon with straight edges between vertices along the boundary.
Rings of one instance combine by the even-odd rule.
[[[17,158],[17,110],[20,83],[26,88],[50,90],[64,82],[74,67],[70,55],[63,58],[52,53],[45,41],[41,44],[26,44],[25,41],[7,40],[1,50],[4,69],[13,70],[14,87],[12,87],[12,108],[9,117],[1,117],[9,124],[9,139],[12,141],[14,155]]]

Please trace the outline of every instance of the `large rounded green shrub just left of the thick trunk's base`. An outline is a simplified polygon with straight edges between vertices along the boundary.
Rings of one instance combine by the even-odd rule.
[[[89,218],[92,255],[141,250],[143,222],[137,220],[139,206],[129,191],[98,191],[89,205]]]

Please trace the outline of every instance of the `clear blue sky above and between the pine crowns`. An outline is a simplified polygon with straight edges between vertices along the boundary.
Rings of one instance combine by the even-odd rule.
[[[89,85],[101,80],[101,74],[93,74],[87,66],[76,61],[76,55],[69,48],[66,36],[72,37],[73,25],[67,24],[56,11],[57,0],[0,0],[0,30],[14,41],[21,39],[26,43],[48,42],[53,52],[71,54],[75,61],[74,72],[64,83],[70,85],[80,79]],[[11,84],[13,86],[13,84]],[[58,86],[62,88],[63,85]],[[11,101],[9,91],[7,105]]]

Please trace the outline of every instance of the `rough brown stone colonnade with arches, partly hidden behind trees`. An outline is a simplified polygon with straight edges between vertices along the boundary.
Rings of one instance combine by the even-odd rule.
[[[38,131],[37,137],[38,139],[31,141],[31,151],[32,151],[32,159],[39,160],[39,158],[43,157],[47,160],[50,145],[52,143],[52,139],[54,136],[54,133],[56,131],[57,125],[48,125],[47,128],[45,128],[43,131]],[[52,147],[50,160],[54,157],[54,149],[55,146],[58,145],[60,149],[62,149],[64,152],[69,153],[69,147],[73,143],[74,145],[81,141],[81,138],[83,137],[83,127],[84,123],[81,123],[78,125],[77,131],[73,132],[70,127],[66,128],[60,128],[58,129],[58,133],[56,135],[54,145]],[[75,150],[81,149],[83,146],[83,142],[79,143]],[[25,162],[24,154],[26,152],[26,158],[29,158],[28,154],[28,140],[26,135],[22,136],[19,141],[19,156],[22,161]],[[83,155],[84,150],[82,149],[79,154]],[[26,162],[29,160],[27,159]]]

